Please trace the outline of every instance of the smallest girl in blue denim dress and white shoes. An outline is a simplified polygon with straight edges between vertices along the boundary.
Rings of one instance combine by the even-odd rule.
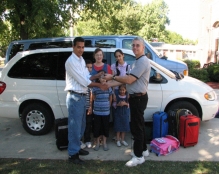
[[[115,107],[114,130],[116,132],[116,144],[118,147],[121,144],[128,146],[128,143],[125,141],[125,132],[130,131],[128,98],[125,85],[119,86],[119,93],[113,95],[113,106]]]

